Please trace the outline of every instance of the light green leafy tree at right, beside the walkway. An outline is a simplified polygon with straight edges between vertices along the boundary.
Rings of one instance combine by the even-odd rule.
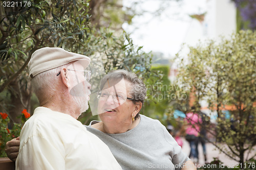
[[[202,100],[208,102],[209,109],[217,111],[214,135],[222,143],[214,144],[242,164],[255,158],[256,32],[240,31],[219,43],[209,41],[190,47],[188,63],[182,56],[178,58],[178,80],[194,87],[197,111]],[[231,116],[225,118],[222,111],[228,106]],[[210,130],[212,126],[202,128]]]

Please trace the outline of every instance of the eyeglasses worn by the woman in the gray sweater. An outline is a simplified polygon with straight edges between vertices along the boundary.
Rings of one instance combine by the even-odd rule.
[[[97,92],[97,98],[101,101],[107,100],[109,96],[112,95],[112,99],[114,102],[119,103],[120,105],[123,104],[126,100],[133,101],[132,98],[128,98],[125,96],[124,93],[118,92],[115,94],[110,94],[108,91],[102,90]]]

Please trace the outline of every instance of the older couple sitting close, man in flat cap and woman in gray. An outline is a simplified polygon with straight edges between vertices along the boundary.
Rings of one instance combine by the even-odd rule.
[[[16,169],[196,169],[158,120],[139,114],[146,88],[131,72],[101,80],[101,122],[76,120],[89,107],[89,63],[62,48],[33,53],[29,75],[40,107],[6,144]]]

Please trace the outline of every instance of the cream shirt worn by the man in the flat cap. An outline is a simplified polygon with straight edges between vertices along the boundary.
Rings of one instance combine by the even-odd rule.
[[[35,109],[20,132],[17,170],[121,169],[108,146],[72,116]]]

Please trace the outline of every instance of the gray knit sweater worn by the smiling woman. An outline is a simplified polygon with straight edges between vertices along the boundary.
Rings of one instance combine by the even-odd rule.
[[[97,122],[92,121],[86,126],[87,130],[109,146],[124,170],[180,169],[188,160],[159,120],[140,115],[137,127],[119,134],[106,134],[92,128]]]

